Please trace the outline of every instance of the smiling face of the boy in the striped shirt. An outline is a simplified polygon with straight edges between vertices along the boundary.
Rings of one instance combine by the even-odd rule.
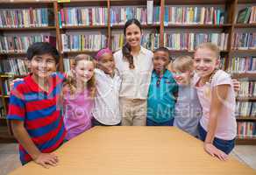
[[[48,78],[56,72],[56,61],[51,54],[35,55],[30,61],[30,68],[34,76],[40,79]]]

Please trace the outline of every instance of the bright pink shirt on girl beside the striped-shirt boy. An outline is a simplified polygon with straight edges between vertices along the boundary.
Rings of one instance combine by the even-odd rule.
[[[88,90],[77,95],[71,96],[67,93],[64,96],[64,123],[67,130],[65,139],[70,140],[91,128],[93,102]]]

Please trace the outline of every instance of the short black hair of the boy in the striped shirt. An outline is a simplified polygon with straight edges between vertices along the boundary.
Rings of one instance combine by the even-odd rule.
[[[56,64],[59,63],[60,53],[57,51],[56,47],[46,42],[36,42],[30,45],[26,51],[26,57],[27,59],[32,60],[35,55],[42,55],[47,53],[53,56]]]

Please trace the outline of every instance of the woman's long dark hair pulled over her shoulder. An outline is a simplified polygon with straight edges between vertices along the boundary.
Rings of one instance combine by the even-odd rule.
[[[133,25],[133,24],[137,25],[139,27],[140,32],[141,32],[141,25],[140,25],[139,21],[136,18],[132,18],[132,19],[129,19],[128,21],[126,21],[126,23],[124,25],[124,36],[126,35],[127,27],[130,26],[130,25]],[[126,43],[122,48],[122,52],[123,52],[123,55],[124,55],[124,59],[126,59],[129,62],[129,68],[134,69],[135,66],[134,66],[134,63],[133,63],[133,56],[131,54],[131,52],[132,52],[131,45]]]

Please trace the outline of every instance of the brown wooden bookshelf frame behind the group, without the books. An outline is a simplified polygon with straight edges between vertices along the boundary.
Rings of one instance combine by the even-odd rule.
[[[112,31],[123,30],[124,25],[111,25],[110,24],[110,8],[112,6],[146,6],[146,0],[71,0],[70,3],[57,3],[57,0],[0,0],[0,2],[6,7],[10,8],[24,8],[24,7],[48,7],[53,8],[54,12],[54,22],[55,26],[48,26],[48,27],[29,27],[29,28],[0,28],[0,35],[4,32],[11,32],[11,31],[18,31],[18,32],[33,32],[33,31],[51,31],[54,32],[56,35],[56,43],[57,48],[60,51],[60,71],[63,71],[63,58],[68,56],[75,56],[79,53],[87,53],[90,55],[94,55],[96,51],[77,51],[77,52],[63,52],[62,49],[62,41],[61,41],[61,34],[66,33],[67,31],[86,31],[86,30],[93,30],[93,31],[105,31],[107,35],[107,43],[108,46],[111,46],[111,33]],[[243,4],[255,4],[256,0],[215,0],[215,1],[205,1],[205,0],[154,0],[154,5],[160,6],[160,25],[142,25],[143,29],[146,30],[155,30],[160,33],[160,46],[164,46],[164,33],[167,30],[202,30],[202,31],[210,31],[210,30],[220,30],[222,32],[226,32],[229,34],[228,37],[228,46],[225,51],[222,51],[221,54],[225,56],[226,61],[224,68],[227,68],[227,63],[232,57],[236,54],[255,54],[256,50],[249,49],[249,50],[232,50],[232,40],[233,34],[235,33],[236,29],[255,29],[256,24],[236,24],[236,17],[238,14],[238,5]],[[225,11],[227,12],[227,21],[224,25],[184,25],[184,24],[174,24],[174,25],[165,25],[164,24],[164,11],[166,5],[198,5],[198,6],[210,6],[210,5],[221,5],[224,6]],[[82,6],[98,6],[98,7],[107,7],[108,9],[108,21],[106,25],[79,25],[79,26],[60,26],[59,24],[59,15],[58,11],[64,7],[82,7]],[[5,8],[5,7],[2,7]],[[194,51],[170,51],[171,54],[190,54],[192,55]],[[8,57],[25,57],[25,52],[8,52],[8,53],[1,53],[0,58],[8,58]],[[14,76],[15,77],[15,76]],[[256,73],[233,73],[233,78],[237,79],[246,79],[246,80],[256,80]],[[13,78],[13,76],[9,75],[0,75],[0,90],[3,92],[3,81]],[[17,78],[17,77],[16,77]],[[7,95],[0,95],[0,100],[4,103],[4,111],[7,113]],[[238,101],[249,101],[255,102],[255,97],[253,98],[237,98]],[[2,119],[3,120],[3,119]],[[238,117],[238,121],[253,121],[254,118],[251,116],[241,116]],[[256,122],[256,121],[255,121]],[[1,135],[1,132],[0,132]],[[0,137],[1,140],[1,137]],[[252,138],[239,138],[237,140],[237,144],[256,144],[256,139]]]

